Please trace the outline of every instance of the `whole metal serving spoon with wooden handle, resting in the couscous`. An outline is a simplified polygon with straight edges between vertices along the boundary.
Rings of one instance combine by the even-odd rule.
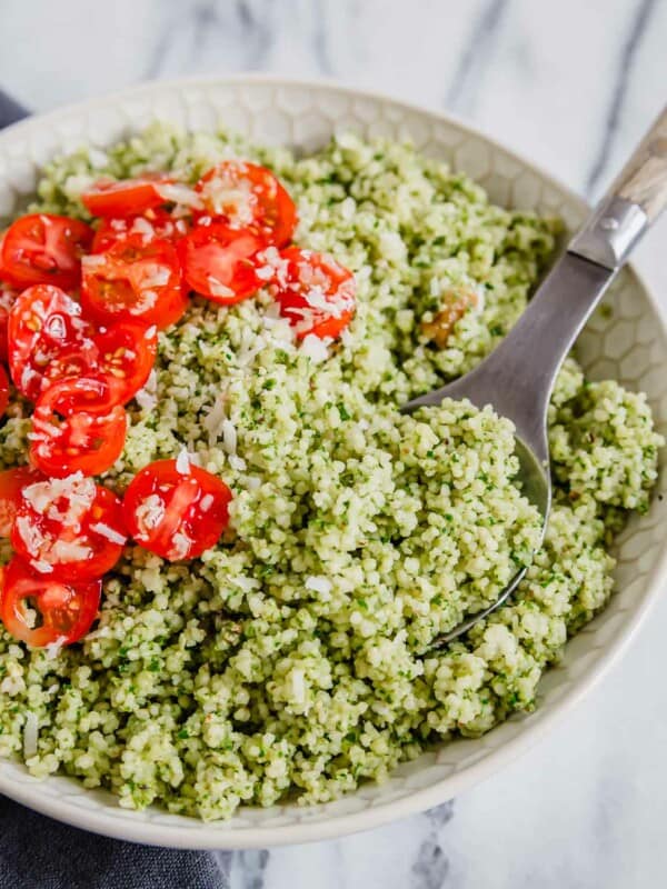
[[[500,344],[465,377],[401,408],[405,413],[440,404],[445,398],[467,398],[510,419],[519,461],[517,483],[539,510],[540,545],[551,506],[547,409],[556,377],[603,293],[665,207],[667,107]],[[451,642],[495,611],[527,570],[524,566],[495,602],[439,637],[435,646]]]

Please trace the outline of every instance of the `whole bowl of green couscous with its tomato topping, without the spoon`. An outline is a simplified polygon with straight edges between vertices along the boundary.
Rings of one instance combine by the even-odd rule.
[[[581,699],[665,571],[644,284],[621,273],[563,367],[535,555],[509,421],[399,407],[494,349],[585,212],[464,124],[332,84],[156,83],[1,133],[0,792],[141,842],[301,842],[450,798]],[[60,278],[28,237],[60,238]],[[29,311],[64,312],[68,349]],[[87,605],[50,632],[53,585]]]

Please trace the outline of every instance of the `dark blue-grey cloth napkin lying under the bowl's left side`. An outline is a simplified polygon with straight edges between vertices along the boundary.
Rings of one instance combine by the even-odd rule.
[[[0,128],[28,113],[0,90]],[[97,837],[0,796],[0,889],[229,889],[230,857]]]

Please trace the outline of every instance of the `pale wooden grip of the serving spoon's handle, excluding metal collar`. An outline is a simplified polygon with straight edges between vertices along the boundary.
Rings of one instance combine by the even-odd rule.
[[[667,108],[623,168],[611,192],[641,207],[649,222],[667,207]]]

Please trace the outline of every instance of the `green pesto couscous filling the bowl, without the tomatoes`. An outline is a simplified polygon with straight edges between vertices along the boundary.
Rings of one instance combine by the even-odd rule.
[[[0,628],[0,757],[205,820],[331,800],[534,708],[542,672],[609,599],[609,547],[648,508],[661,444],[641,393],[568,359],[545,542],[509,603],[434,650],[531,559],[540,522],[514,482],[508,420],[468,402],[398,407],[500,341],[558,223],[492,206],[410,146],[346,136],[295,157],[163,124],[57,160],[34,209],[86,220],[80,194],[102,174],[195,182],[230,157],[285,183],[298,242],[354,272],[356,316],[312,348],[263,290],[229,308],[195,299],[160,333],[102,481],[122,493],[186,449],[231,489],[229,529],[190,562],[127,546],[81,643],[29,649]],[[26,463],[29,429],[26,402],[8,413],[6,468]]]

